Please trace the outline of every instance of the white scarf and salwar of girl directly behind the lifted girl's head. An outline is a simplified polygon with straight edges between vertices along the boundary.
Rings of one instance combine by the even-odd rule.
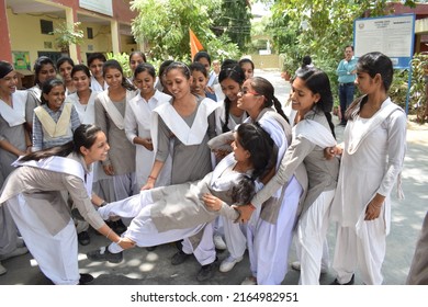
[[[250,122],[250,118],[247,118]],[[260,126],[271,136],[278,147],[277,170],[289,147],[284,128],[267,112],[260,120]],[[283,191],[285,190],[285,191]],[[252,276],[259,285],[279,285],[288,272],[289,250],[293,240],[293,227],[302,195],[302,186],[293,175],[286,187],[279,189],[272,196],[283,201],[277,223],[266,221],[257,216],[256,221],[247,225],[247,245]],[[284,195],[281,195],[281,194]],[[252,219],[252,217],[251,217]]]

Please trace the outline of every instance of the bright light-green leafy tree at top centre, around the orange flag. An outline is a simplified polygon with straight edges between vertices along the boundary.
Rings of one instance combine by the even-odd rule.
[[[132,22],[132,33],[137,42],[147,42],[154,60],[172,57],[189,61],[189,29],[204,48],[221,58],[239,54],[228,37],[217,37],[211,30],[212,15],[218,12],[221,0],[133,0],[131,9],[138,11]],[[222,43],[223,45],[221,45]]]

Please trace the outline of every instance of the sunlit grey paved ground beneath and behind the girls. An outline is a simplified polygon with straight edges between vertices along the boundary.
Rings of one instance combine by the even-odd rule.
[[[285,101],[290,86],[280,78],[279,71],[258,71],[269,79],[275,87],[280,101]],[[337,118],[335,118],[337,122]],[[338,139],[341,139],[342,127],[337,127]],[[406,195],[398,202],[393,196],[392,230],[387,238],[386,259],[383,265],[384,284],[402,285],[405,283],[412,257],[415,249],[418,232],[424,216],[427,212],[427,183],[428,183],[428,125],[419,126],[409,121],[408,125],[408,151],[403,170],[403,189]],[[394,190],[395,191],[395,190]],[[330,254],[335,245],[335,226],[330,226],[328,240]],[[194,259],[173,266],[170,258],[177,251],[172,245],[158,247],[155,251],[136,248],[124,253],[124,261],[120,264],[104,262],[90,262],[86,259],[86,252],[108,243],[108,240],[91,232],[92,242],[88,247],[79,249],[79,266],[82,273],[91,273],[95,285],[193,285],[200,284],[195,280],[199,264]],[[48,248],[48,247],[46,247]],[[227,252],[218,253],[223,260]],[[290,252],[290,261],[296,259],[294,247]],[[40,272],[32,260],[31,254],[3,261],[9,272],[0,276],[0,285],[46,285],[48,281]],[[229,273],[216,272],[215,276],[203,284],[211,285],[237,285],[249,275],[248,257],[238,263]],[[320,284],[329,284],[334,280],[330,270],[322,275]],[[299,273],[290,270],[284,285],[295,285],[299,282]],[[361,284],[357,273],[356,283]],[[1,289],[1,287],[0,287]]]

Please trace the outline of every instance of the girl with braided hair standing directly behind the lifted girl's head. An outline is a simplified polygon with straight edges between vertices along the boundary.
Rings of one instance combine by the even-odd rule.
[[[274,96],[273,86],[268,80],[261,77],[246,80],[238,107],[247,111],[247,121],[260,123],[278,147],[277,175],[268,183],[269,186],[272,183],[275,185],[272,189],[263,187],[249,205],[239,207],[243,221],[251,217],[247,226],[247,240],[252,276],[245,280],[244,284],[278,285],[286,274],[297,205],[305,195],[307,174],[300,163],[286,184],[277,184],[277,178],[282,178],[279,168],[291,143],[291,127],[281,103]]]

